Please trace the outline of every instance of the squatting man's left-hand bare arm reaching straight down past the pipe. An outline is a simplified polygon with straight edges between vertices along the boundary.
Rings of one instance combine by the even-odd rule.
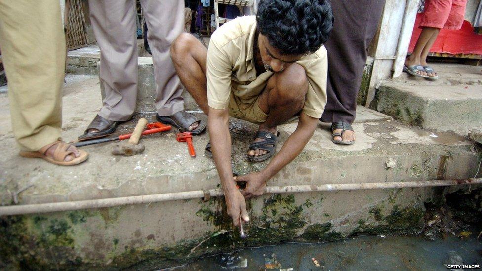
[[[209,107],[207,123],[212,155],[223,187],[228,215],[232,218],[233,224],[239,226],[240,215],[244,221],[249,221],[249,216],[244,197],[233,182],[228,109],[220,110]]]

